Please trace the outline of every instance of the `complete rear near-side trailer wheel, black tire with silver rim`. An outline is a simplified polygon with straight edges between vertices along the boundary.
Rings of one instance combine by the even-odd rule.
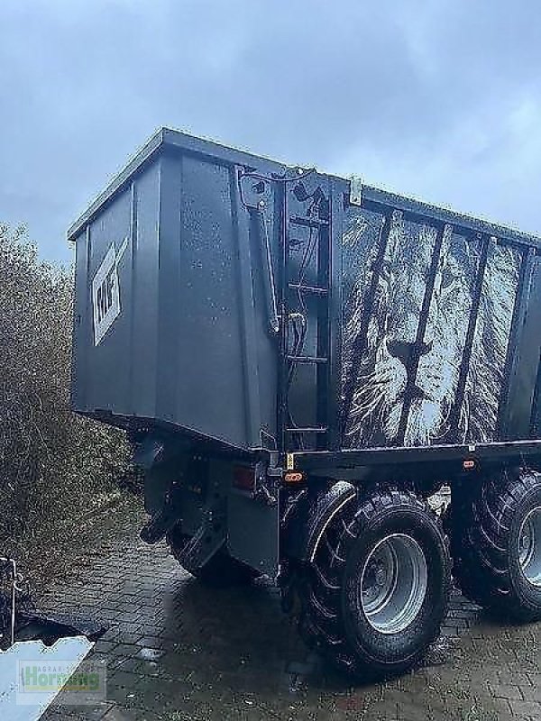
[[[300,632],[362,680],[406,671],[440,633],[450,567],[426,504],[410,491],[374,491],[321,538],[300,594]]]

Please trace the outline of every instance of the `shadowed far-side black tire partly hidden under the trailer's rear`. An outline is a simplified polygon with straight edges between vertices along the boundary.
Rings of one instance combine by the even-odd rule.
[[[167,543],[172,556],[182,566],[182,552],[189,542],[189,536],[183,534],[178,528],[173,528],[167,534]],[[184,566],[183,566],[184,568]],[[220,550],[206,563],[203,568],[196,571],[189,570],[192,576],[204,586],[225,588],[227,586],[243,586],[261,574],[241,561],[232,558],[226,551]]]

